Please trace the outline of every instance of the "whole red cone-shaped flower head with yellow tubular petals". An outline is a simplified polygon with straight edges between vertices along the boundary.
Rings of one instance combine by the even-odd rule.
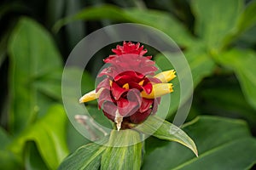
[[[165,71],[156,76],[158,69],[151,56],[143,56],[147,49],[140,43],[124,42],[123,46],[113,49],[104,62],[109,66],[103,69],[98,77],[103,77],[96,91],[85,94],[80,102],[98,98],[108,119],[117,123],[118,130],[129,125],[138,124],[157,111],[160,96],[171,93],[172,83],[176,77],[174,71]]]

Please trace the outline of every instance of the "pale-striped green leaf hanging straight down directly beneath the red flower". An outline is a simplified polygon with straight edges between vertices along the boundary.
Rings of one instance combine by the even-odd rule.
[[[133,130],[112,131],[108,145],[102,155],[102,170],[140,169],[143,147],[139,133]]]

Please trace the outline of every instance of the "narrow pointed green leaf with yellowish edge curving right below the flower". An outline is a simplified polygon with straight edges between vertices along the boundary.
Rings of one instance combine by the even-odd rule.
[[[189,136],[183,132],[182,129],[176,127],[170,122],[160,119],[157,116],[149,116],[143,124],[136,127],[142,133],[153,134],[154,137],[159,139],[166,139],[175,141],[177,143],[187,146],[197,156],[197,149],[195,143]]]

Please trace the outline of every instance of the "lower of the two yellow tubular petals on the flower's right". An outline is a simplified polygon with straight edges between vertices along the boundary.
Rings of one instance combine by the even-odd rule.
[[[173,92],[172,83],[158,83],[153,85],[153,89],[150,94],[147,94],[144,91],[141,94],[143,98],[154,99],[165,94],[170,94],[172,92]]]

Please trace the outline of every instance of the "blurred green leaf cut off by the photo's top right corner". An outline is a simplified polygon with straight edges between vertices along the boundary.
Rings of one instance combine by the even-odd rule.
[[[239,31],[246,31],[256,25],[256,1],[247,4],[239,20]]]

